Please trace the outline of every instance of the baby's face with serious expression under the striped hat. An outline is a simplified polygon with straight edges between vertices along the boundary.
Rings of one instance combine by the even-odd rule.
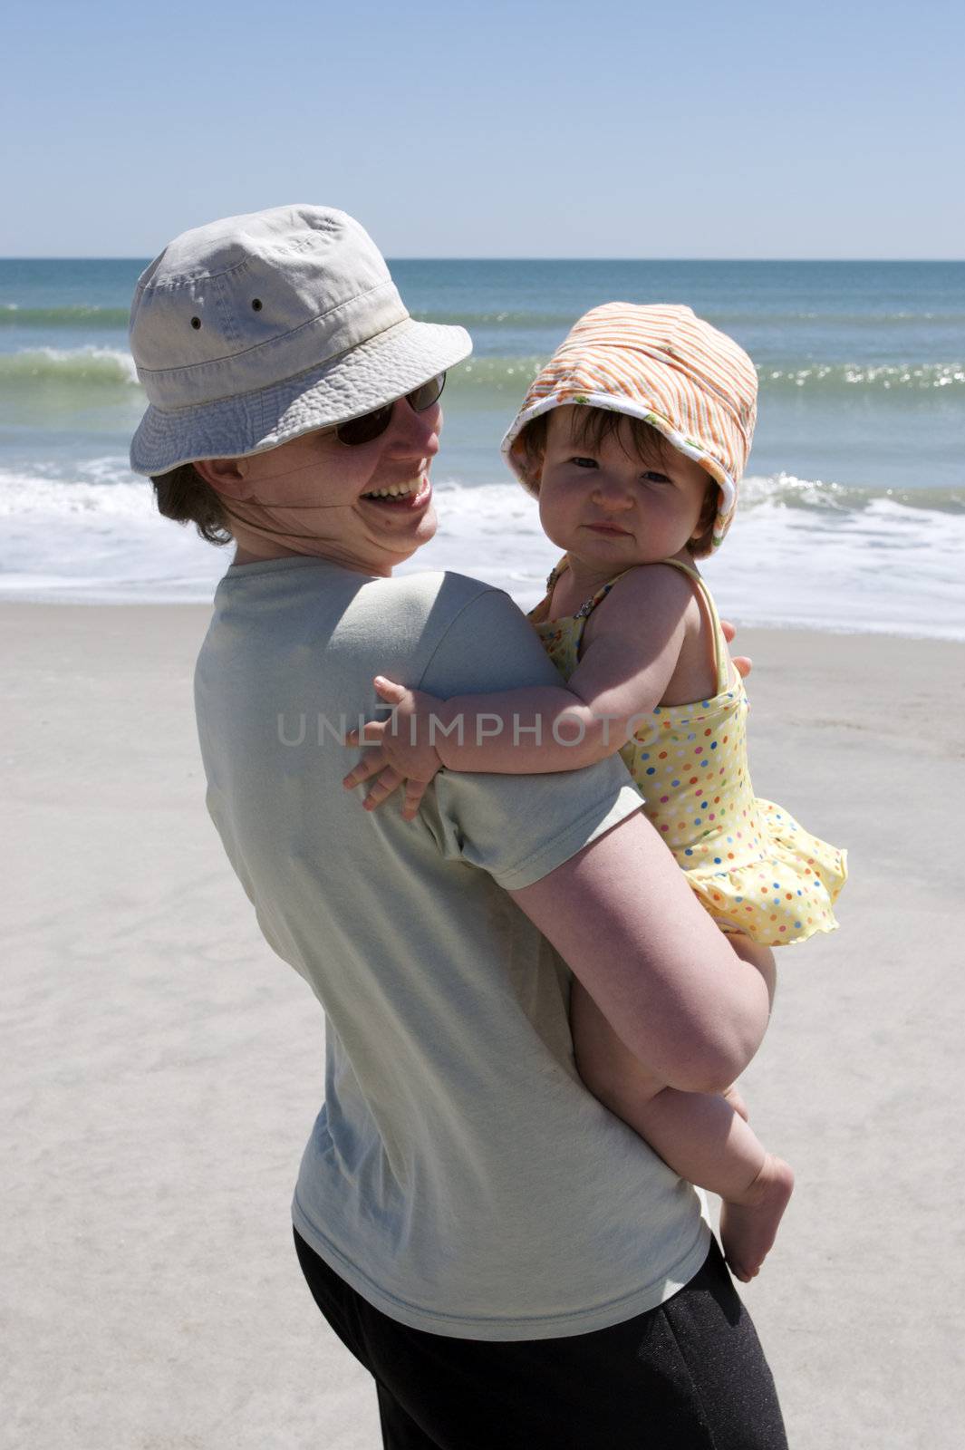
[[[539,516],[559,548],[587,564],[627,568],[682,554],[697,536],[710,474],[669,445],[640,458],[627,428],[597,448],[574,438],[578,409],[549,416]]]

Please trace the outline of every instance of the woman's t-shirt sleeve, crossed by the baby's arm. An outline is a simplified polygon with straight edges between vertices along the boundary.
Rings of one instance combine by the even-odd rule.
[[[435,648],[419,689],[448,699],[559,684],[536,631],[501,590],[477,594]],[[548,876],[640,808],[619,755],[545,776],[440,770],[429,824],[448,858],[488,871],[506,890]]]

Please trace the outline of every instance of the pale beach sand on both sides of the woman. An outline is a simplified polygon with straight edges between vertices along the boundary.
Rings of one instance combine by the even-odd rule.
[[[207,610],[0,609],[0,1444],[375,1450],[288,1204],[322,1015],[203,805]],[[851,850],[745,1074],[797,1170],[743,1290],[794,1450],[961,1443],[965,645],[743,631],[761,795]]]

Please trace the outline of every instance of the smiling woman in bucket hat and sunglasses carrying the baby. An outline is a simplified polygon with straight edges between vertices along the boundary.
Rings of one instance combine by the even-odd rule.
[[[435,531],[468,336],[409,318],[356,222],[294,206],[177,238],[130,338],[132,465],[236,544],[196,674],[207,803],[325,1008],[296,1247],[384,1444],[784,1446],[694,1190],[572,1063],[569,972],[682,1090],[727,1086],[766,1025],[623,767],[442,773],[413,824],[341,787],[377,670],[443,697],[553,679],[500,592],[393,579]]]

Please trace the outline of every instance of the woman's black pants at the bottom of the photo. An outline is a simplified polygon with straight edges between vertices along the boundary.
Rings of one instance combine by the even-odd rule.
[[[787,1450],[774,1380],[714,1243],[656,1309],[593,1334],[410,1330],[296,1232],[322,1314],[375,1379],[385,1450]]]

